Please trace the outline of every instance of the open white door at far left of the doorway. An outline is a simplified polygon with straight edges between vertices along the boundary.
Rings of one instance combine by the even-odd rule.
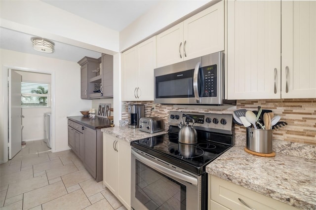
[[[21,82],[22,76],[9,70],[9,159],[22,149]]]

